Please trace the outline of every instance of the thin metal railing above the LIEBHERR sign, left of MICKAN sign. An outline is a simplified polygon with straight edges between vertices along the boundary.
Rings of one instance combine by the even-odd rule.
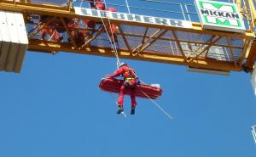
[[[186,11],[183,3],[170,3],[159,0],[105,0],[106,6],[117,8],[119,12],[128,14],[143,14],[149,16],[160,16],[169,19],[189,20],[190,12]],[[139,2],[139,3],[138,3]],[[74,6],[88,8],[88,0],[76,0]]]

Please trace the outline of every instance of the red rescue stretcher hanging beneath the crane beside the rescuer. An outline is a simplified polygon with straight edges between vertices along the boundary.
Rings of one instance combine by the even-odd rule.
[[[123,84],[123,80],[118,79],[107,79],[103,78],[99,87],[102,91],[110,92],[110,93],[119,93],[119,89]],[[140,98],[152,98],[156,99],[160,97],[162,94],[162,89],[160,87],[154,87],[147,84],[138,84],[136,88],[136,96]],[[131,89],[126,89],[125,94],[130,95]]]

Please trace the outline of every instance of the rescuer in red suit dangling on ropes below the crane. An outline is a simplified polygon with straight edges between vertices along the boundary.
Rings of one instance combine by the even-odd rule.
[[[123,76],[124,77],[124,83],[120,87],[119,92],[119,98],[117,101],[117,104],[119,106],[119,109],[117,111],[117,114],[120,114],[124,111],[123,108],[123,102],[124,102],[124,95],[125,95],[125,89],[130,88],[131,89],[131,115],[135,114],[135,108],[137,105],[136,102],[136,87],[137,87],[137,76],[135,70],[131,69],[128,64],[125,63],[119,63],[119,69],[115,70],[112,75],[105,76],[106,78],[113,78],[117,76]]]

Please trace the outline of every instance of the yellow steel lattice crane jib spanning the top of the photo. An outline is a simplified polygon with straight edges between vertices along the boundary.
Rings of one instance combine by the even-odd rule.
[[[28,50],[35,52],[68,52],[114,57],[106,33],[108,29],[104,29],[103,21],[107,26],[109,23],[116,25],[117,49],[119,57],[123,59],[181,64],[221,71],[244,70],[245,67],[250,68],[248,64],[255,61],[254,54],[250,51],[250,48],[256,47],[252,44],[254,33],[250,29],[243,33],[214,31],[204,29],[201,23],[189,20],[117,14],[126,18],[122,20],[102,17],[102,14],[108,13],[91,11],[90,8],[87,8],[87,11],[80,10],[83,14],[79,14],[71,1],[60,6],[32,1],[2,0],[0,9],[21,12],[24,15]],[[140,18],[143,18],[144,22],[140,21]],[[153,18],[154,23],[150,21]],[[70,21],[77,22],[78,25],[73,29]],[[163,25],[164,22],[166,25]]]

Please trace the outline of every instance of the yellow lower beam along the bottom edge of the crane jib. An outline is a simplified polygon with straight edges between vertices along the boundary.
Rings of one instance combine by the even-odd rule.
[[[29,45],[31,51],[42,52],[42,53],[52,53],[56,52],[66,52],[66,53],[80,53],[80,54],[89,54],[96,56],[105,56],[105,57],[115,57],[112,48],[98,48],[98,47],[88,47],[83,50],[75,49],[72,44],[66,43],[57,43],[57,42],[42,42],[38,39],[32,39],[31,44]],[[71,51],[72,49],[72,51]],[[190,67],[204,68],[204,69],[215,69],[219,66],[219,70],[241,70],[240,67],[234,66],[231,62],[224,62],[218,60],[210,59],[197,59],[193,62],[184,62],[182,57],[164,55],[164,54],[155,54],[155,53],[143,53],[140,55],[133,56],[131,52],[127,50],[119,49],[119,57],[123,59],[137,59],[150,62],[160,62],[166,64],[181,64],[188,65]]]

